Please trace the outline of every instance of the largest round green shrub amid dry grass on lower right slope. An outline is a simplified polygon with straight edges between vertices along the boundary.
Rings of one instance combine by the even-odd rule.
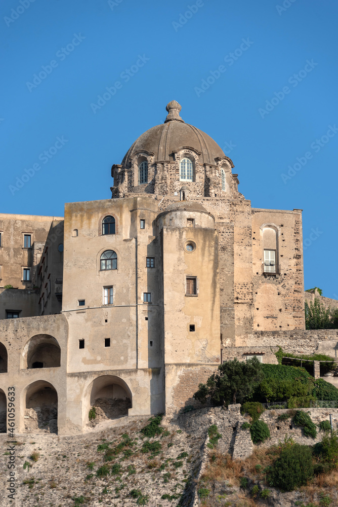
[[[279,458],[272,465],[270,484],[284,491],[293,491],[305,485],[313,477],[311,449],[294,444],[282,449]]]

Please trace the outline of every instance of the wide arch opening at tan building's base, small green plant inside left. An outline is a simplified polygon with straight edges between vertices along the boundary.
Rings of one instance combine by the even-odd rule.
[[[85,414],[87,418],[92,407],[95,407],[96,412],[95,419],[92,419],[93,424],[126,416],[132,408],[132,392],[121,378],[102,375],[89,386]]]

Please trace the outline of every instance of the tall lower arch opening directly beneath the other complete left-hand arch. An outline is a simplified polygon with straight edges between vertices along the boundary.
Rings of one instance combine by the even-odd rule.
[[[58,432],[58,394],[46,380],[37,380],[26,387],[25,431]]]

